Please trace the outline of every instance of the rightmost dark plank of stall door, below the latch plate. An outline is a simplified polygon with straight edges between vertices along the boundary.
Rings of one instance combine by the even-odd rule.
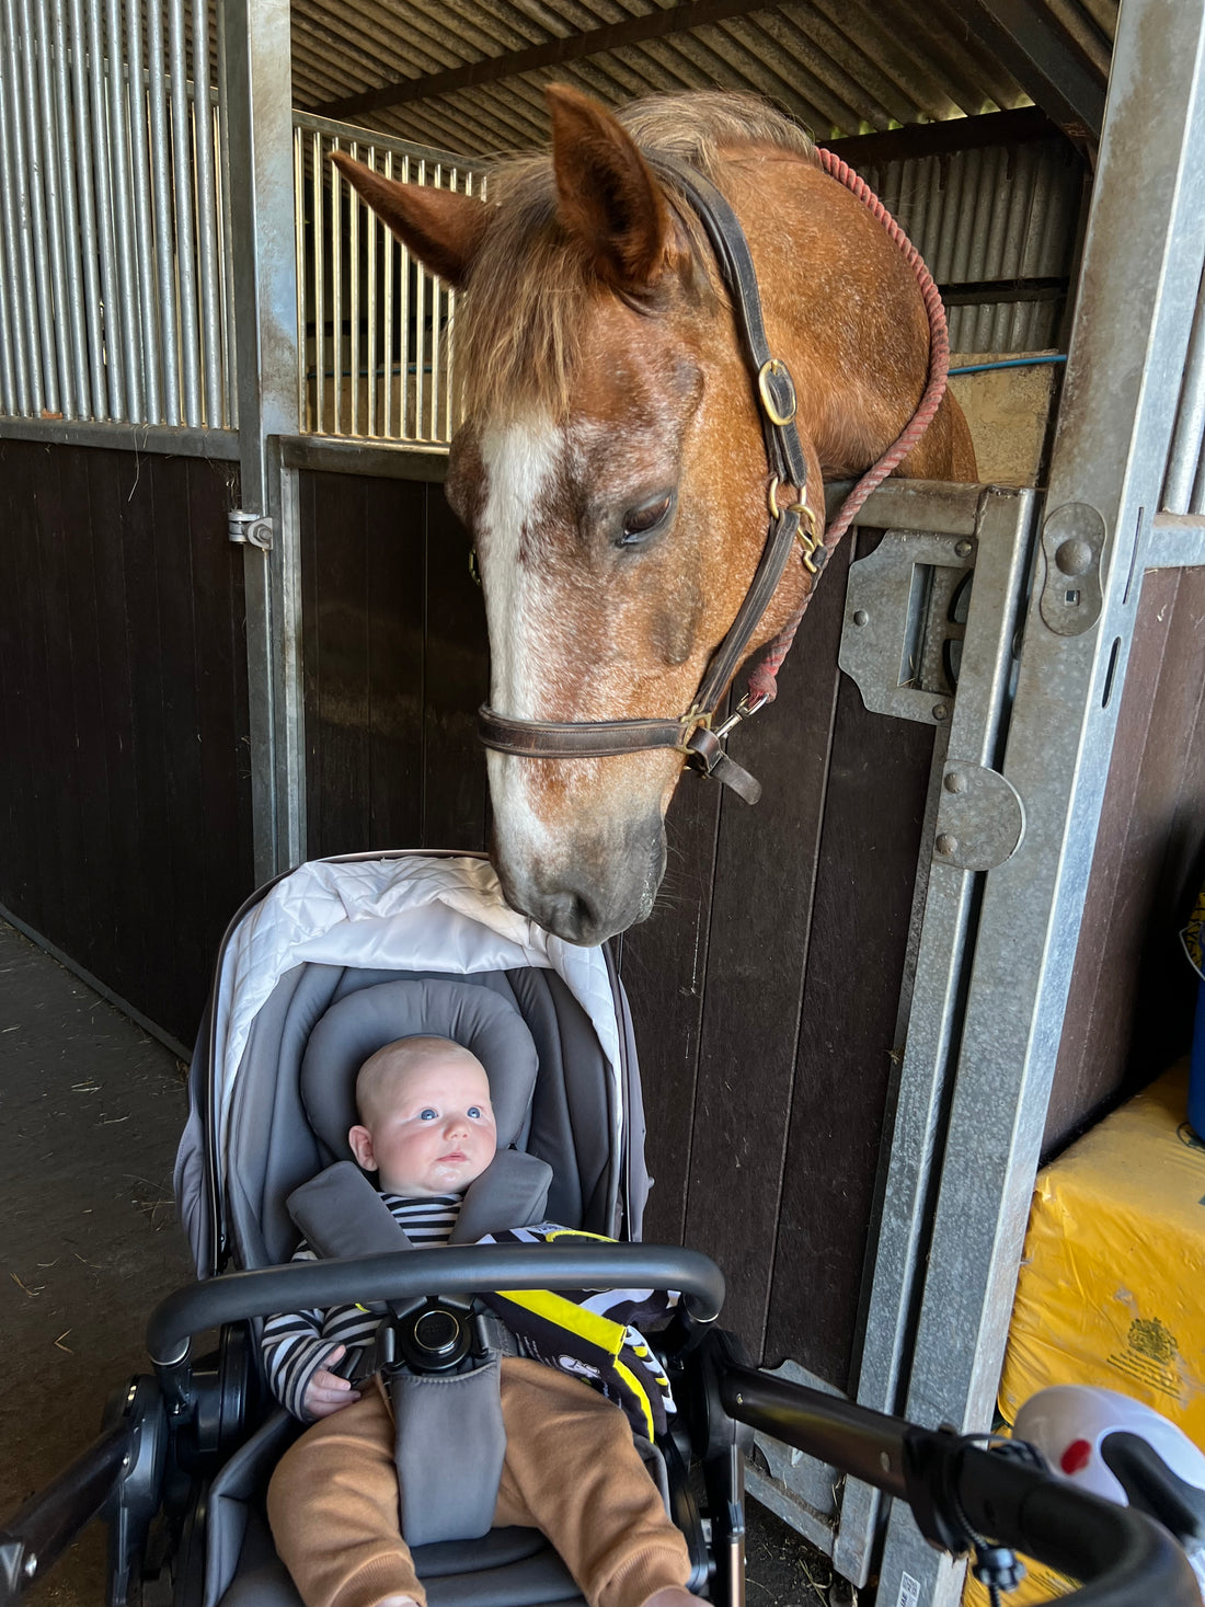
[[[861,556],[861,550],[860,550]],[[765,1353],[850,1385],[892,1080],[932,726],[842,677],[816,861]]]

